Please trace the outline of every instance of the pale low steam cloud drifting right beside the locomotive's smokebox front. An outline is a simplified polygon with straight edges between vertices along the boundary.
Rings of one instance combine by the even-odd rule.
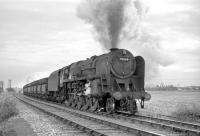
[[[123,44],[133,44],[134,48],[132,52],[135,55],[144,57],[146,81],[151,81],[157,77],[160,78],[160,68],[174,63],[169,54],[160,46],[159,37],[153,36],[145,31],[140,32],[140,36],[137,39],[124,41]]]

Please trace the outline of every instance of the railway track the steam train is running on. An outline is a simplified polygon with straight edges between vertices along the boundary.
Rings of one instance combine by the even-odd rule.
[[[46,103],[29,97],[24,98],[38,103]],[[76,116],[106,124],[107,126],[114,127],[117,130],[125,130],[126,132],[131,132],[135,135],[200,135],[200,126],[198,124],[167,120],[143,115],[128,117],[121,114],[110,115],[104,112],[83,112],[72,108],[66,108],[64,106],[53,103],[48,103],[47,105],[56,109],[62,109],[64,111],[67,110],[68,112],[73,112],[72,114],[75,114]],[[113,131],[115,131],[115,129],[113,129]],[[93,130],[92,132],[95,131]]]

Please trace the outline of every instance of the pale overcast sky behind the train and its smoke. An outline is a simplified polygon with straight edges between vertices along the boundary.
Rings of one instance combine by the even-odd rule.
[[[92,27],[77,17],[81,1],[0,0],[0,80],[12,79],[13,86],[21,87],[72,62],[107,52],[94,39]],[[165,60],[172,60],[158,65],[159,74],[148,84],[200,85],[200,1],[143,3],[148,9],[143,28],[159,39]],[[133,45],[122,48],[134,53]]]

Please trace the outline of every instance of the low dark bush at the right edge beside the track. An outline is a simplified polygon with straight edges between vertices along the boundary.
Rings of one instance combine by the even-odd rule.
[[[180,105],[172,115],[183,121],[200,121],[200,109],[195,104]]]

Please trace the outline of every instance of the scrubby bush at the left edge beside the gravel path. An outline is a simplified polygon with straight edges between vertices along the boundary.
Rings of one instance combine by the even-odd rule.
[[[13,96],[8,93],[0,94],[0,123],[9,119],[10,117],[17,115],[18,109]]]

